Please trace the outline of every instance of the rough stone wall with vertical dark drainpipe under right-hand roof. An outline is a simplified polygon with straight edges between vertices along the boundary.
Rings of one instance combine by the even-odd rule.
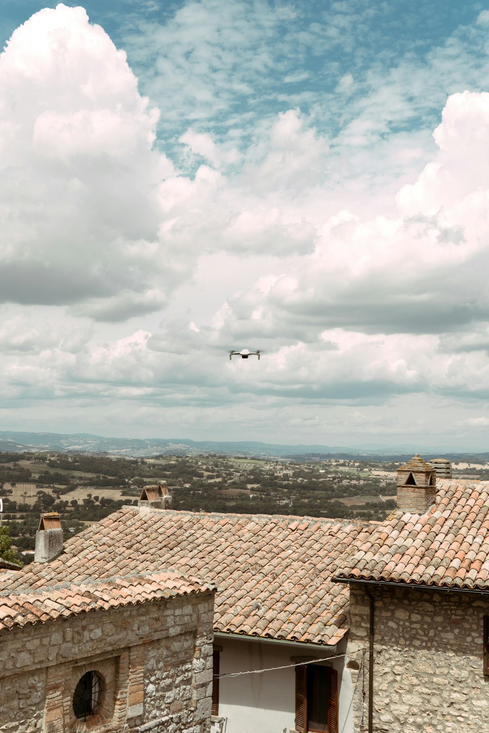
[[[356,733],[368,730],[369,598],[375,598],[375,733],[489,733],[483,616],[489,597],[350,586]]]

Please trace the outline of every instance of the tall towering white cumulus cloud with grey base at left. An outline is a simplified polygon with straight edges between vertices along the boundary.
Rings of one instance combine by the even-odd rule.
[[[125,53],[81,7],[37,12],[0,54],[0,118],[3,301],[154,309],[141,294],[155,271],[171,284],[157,186],[173,168]]]

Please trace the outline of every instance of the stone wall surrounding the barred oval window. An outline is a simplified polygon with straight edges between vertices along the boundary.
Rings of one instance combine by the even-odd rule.
[[[0,733],[207,733],[213,594],[173,597],[26,625],[0,634]],[[73,691],[104,680],[97,715]]]

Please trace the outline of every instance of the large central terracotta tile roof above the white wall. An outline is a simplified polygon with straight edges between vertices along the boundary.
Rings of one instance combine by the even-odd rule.
[[[336,644],[347,630],[349,592],[331,576],[370,531],[312,517],[122,507],[68,540],[59,559],[17,577],[43,588],[172,567],[216,583],[216,631]]]

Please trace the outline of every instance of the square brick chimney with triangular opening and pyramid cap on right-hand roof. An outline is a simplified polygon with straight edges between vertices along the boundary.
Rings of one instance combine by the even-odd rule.
[[[397,509],[425,514],[435,504],[436,471],[416,454],[397,469]]]

